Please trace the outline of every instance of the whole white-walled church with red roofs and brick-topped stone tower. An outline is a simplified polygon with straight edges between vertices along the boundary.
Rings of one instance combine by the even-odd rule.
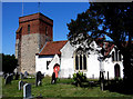
[[[99,79],[103,71],[105,78],[123,78],[123,56],[113,43],[100,43],[101,39],[93,40],[89,44],[93,50],[84,52],[81,44],[73,47],[69,40],[53,41],[53,20],[44,14],[20,17],[16,40],[18,70],[29,73],[41,71],[44,76],[55,72],[57,78],[72,78],[80,71],[92,79]],[[103,48],[104,53],[96,51]],[[103,55],[106,58],[100,60]]]

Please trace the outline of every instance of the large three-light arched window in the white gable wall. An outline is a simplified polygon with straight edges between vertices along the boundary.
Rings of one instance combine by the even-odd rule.
[[[75,70],[86,70],[86,55],[82,49],[75,52]]]

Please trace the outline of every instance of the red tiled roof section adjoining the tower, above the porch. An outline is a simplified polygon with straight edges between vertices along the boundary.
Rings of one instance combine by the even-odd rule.
[[[42,51],[39,53],[39,56],[61,55],[60,49],[62,49],[66,42],[68,40],[49,41],[47,42]]]

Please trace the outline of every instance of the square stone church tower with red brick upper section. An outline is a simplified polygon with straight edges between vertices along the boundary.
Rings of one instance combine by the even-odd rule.
[[[53,41],[53,20],[42,13],[34,13],[19,18],[16,34],[16,58],[20,72],[35,72],[35,53],[47,41]]]

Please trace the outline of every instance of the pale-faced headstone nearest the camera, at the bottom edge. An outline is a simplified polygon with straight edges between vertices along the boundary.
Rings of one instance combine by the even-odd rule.
[[[31,98],[31,85],[30,83],[25,83],[23,86],[23,98]]]

